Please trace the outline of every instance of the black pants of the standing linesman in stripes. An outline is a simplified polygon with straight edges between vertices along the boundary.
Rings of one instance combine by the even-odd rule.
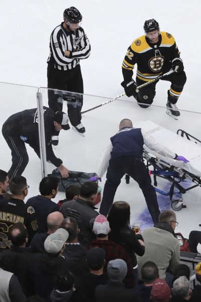
[[[66,90],[83,94],[83,80],[80,65],[70,70],[59,70],[52,64],[47,68],[48,88]],[[58,102],[59,96],[53,90],[48,90],[48,105],[54,112],[62,111],[63,104]],[[80,106],[68,104],[68,117],[72,126],[77,126],[81,122],[81,108],[83,97],[79,98]]]

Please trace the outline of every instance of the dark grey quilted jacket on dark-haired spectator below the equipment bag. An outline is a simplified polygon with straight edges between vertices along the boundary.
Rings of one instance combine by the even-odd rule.
[[[77,198],[75,201],[64,202],[61,206],[64,218],[74,217],[77,220],[80,234],[78,241],[87,246],[95,237],[92,233],[93,221],[98,215],[95,207],[87,200]]]

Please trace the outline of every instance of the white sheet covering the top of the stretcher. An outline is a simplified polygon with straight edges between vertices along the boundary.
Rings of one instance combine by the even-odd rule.
[[[184,156],[189,163],[185,164],[181,161],[163,157],[144,145],[144,149],[147,150],[147,152],[174,167],[184,169],[195,176],[201,177],[201,145],[187,140],[149,120],[135,122],[133,127],[141,128],[146,133],[152,135],[158,143],[166,146],[172,152]],[[200,139],[200,137],[198,137],[198,139]]]

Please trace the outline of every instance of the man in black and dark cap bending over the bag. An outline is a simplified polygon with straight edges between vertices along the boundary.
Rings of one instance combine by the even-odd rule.
[[[68,169],[62,165],[62,161],[54,155],[51,136],[53,131],[68,130],[68,116],[62,111],[54,111],[43,107],[45,123],[45,140],[47,161],[58,167],[62,177],[68,177]],[[2,127],[2,133],[6,139],[12,154],[12,166],[8,172],[9,179],[20,176],[24,172],[29,157],[25,143],[28,143],[40,158],[38,110],[28,109],[11,115]]]

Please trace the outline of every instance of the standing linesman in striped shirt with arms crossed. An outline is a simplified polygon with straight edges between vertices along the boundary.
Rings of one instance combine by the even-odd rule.
[[[90,55],[90,43],[81,28],[82,15],[70,7],[63,13],[64,22],[58,25],[50,36],[50,55],[47,60],[48,88],[66,90],[83,94],[83,80],[79,65],[80,59]],[[54,111],[62,110],[62,103],[58,102],[58,94],[48,91],[49,107]],[[84,133],[81,123],[81,108],[83,97],[79,98],[79,106],[68,104],[68,117],[73,129]],[[53,144],[58,143],[58,138]],[[57,141],[56,141],[57,140]]]

